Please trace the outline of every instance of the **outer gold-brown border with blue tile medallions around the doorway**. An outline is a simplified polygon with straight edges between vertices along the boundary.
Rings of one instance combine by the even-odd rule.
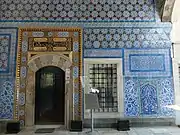
[[[19,44],[17,58],[17,88],[16,103],[19,104],[20,112],[25,112],[27,62],[30,37],[70,37],[72,39],[72,69],[73,69],[73,108],[74,119],[82,119],[82,89],[80,76],[82,72],[82,31],[80,28],[22,28],[19,29]],[[76,96],[75,96],[76,95]],[[77,96],[78,95],[78,96]],[[18,116],[16,106],[16,119],[19,118],[21,125],[25,124],[25,114]]]

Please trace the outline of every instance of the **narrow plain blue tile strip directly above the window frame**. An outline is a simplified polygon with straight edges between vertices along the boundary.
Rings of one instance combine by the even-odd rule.
[[[122,58],[121,49],[85,49],[84,58]]]

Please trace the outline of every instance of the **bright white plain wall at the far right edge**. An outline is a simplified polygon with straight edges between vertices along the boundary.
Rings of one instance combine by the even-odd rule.
[[[172,13],[172,32],[171,40],[173,42],[173,77],[175,90],[175,105],[180,106],[180,79],[179,79],[179,65],[180,65],[180,0],[176,0]],[[180,108],[180,107],[179,107]],[[176,125],[180,125],[180,110],[176,111]]]

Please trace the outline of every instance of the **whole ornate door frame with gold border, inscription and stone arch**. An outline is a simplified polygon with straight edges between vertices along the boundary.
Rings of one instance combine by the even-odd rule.
[[[66,107],[68,108],[66,111],[69,111],[67,111],[68,114],[65,113],[67,115],[65,125],[68,129],[70,120],[83,119],[82,28],[25,26],[19,28],[18,35],[14,120],[20,121],[21,127],[34,125],[34,121],[32,121],[34,113],[29,112],[34,109],[34,72],[43,66],[61,65],[60,68],[63,68],[64,71],[67,70],[70,74],[67,77],[70,79],[66,82],[66,85],[69,86],[66,87]],[[37,42],[38,44],[36,44]],[[39,57],[39,55],[50,54],[55,57]],[[38,58],[32,62],[31,60],[36,56]],[[64,65],[62,65],[63,62]],[[71,63],[72,66],[68,67],[68,63]]]

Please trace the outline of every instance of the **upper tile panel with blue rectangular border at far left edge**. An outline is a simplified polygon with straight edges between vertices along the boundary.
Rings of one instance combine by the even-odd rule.
[[[0,27],[0,74],[4,78],[15,76],[17,35],[16,28]]]

